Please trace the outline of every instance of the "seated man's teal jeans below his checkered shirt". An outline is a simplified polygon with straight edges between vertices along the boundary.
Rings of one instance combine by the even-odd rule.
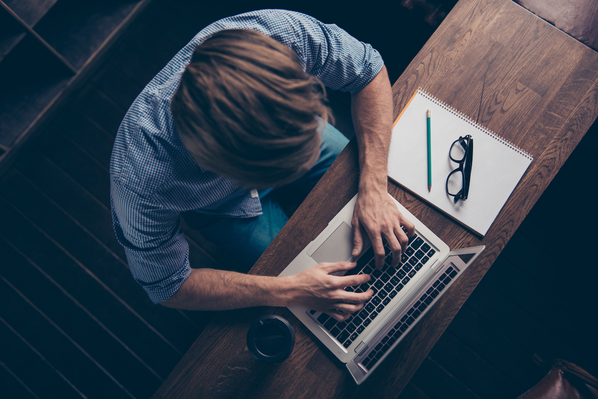
[[[320,178],[343,151],[349,140],[340,131],[328,124],[322,133],[321,154],[318,162],[303,177],[288,185],[296,189],[298,195],[312,191]],[[182,216],[187,224],[199,231],[249,270],[255,261],[274,240],[282,226],[289,220],[280,205],[273,198],[271,189],[260,192],[262,212],[260,216],[237,218],[208,216],[199,213],[185,213]]]

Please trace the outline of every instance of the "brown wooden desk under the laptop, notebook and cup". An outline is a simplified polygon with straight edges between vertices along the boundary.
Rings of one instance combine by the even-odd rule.
[[[251,308],[216,315],[154,398],[396,398],[596,119],[598,54],[511,0],[461,0],[393,85],[395,115],[417,87],[534,156],[483,240],[389,183],[390,194],[449,247],[486,245],[477,262],[359,387],[288,309]],[[251,274],[278,275],[357,186],[353,140]],[[297,335],[291,357],[276,366],[246,348],[252,321],[268,313],[289,320]]]

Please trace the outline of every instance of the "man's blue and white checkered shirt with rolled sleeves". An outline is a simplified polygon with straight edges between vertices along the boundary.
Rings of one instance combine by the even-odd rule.
[[[112,222],[135,280],[154,303],[169,299],[191,272],[179,214],[261,214],[251,188],[197,165],[185,149],[170,99],[197,45],[225,29],[258,30],[298,55],[306,73],[357,93],[382,69],[380,54],[334,24],[305,14],[261,10],[210,24],[149,82],[118,129],[110,162]]]

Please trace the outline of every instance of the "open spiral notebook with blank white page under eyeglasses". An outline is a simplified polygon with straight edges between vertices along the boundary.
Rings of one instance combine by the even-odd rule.
[[[431,111],[432,190],[428,192],[426,112]],[[465,201],[447,195],[446,179],[459,165],[449,149],[459,136],[474,139],[469,195]],[[388,176],[408,191],[481,236],[492,225],[532,155],[472,121],[468,116],[419,88],[392,129]]]

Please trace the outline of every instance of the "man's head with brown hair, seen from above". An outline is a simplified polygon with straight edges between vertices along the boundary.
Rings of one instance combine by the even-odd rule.
[[[260,32],[224,30],[197,46],[172,113],[200,165],[264,188],[298,179],[318,160],[324,101],[293,50]]]

